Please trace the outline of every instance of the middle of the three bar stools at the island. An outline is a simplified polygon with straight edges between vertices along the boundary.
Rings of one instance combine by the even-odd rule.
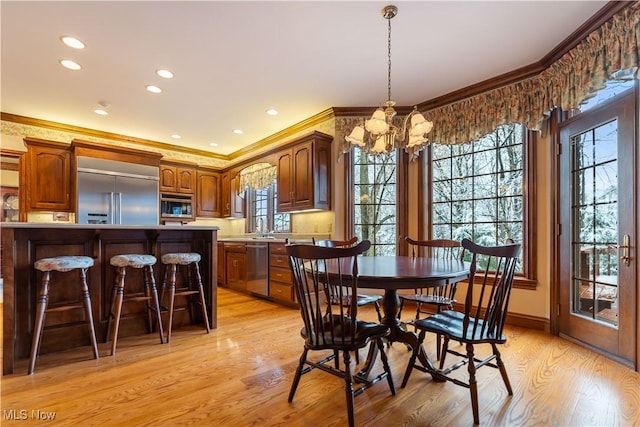
[[[156,321],[158,325],[158,333],[160,334],[160,344],[164,344],[164,331],[162,330],[162,319],[160,318],[160,301],[158,300],[158,291],[156,289],[156,280],[153,277],[153,265],[156,263],[156,257],[153,255],[143,254],[124,254],[114,255],[109,263],[116,267],[118,275],[113,286],[113,295],[111,297],[111,309],[109,310],[109,322],[107,324],[107,335],[105,342],[111,338],[111,355],[116,354],[116,344],[118,343],[118,331],[120,329],[120,318],[122,316],[122,304],[132,301],[145,301],[147,311],[147,323],[149,332],[153,331],[153,321],[151,312],[156,313]],[[127,267],[141,268],[144,277],[144,295],[136,294],[128,298],[124,298],[124,277]],[[151,305],[149,303],[151,301]],[[113,331],[111,330],[111,321],[115,319]]]

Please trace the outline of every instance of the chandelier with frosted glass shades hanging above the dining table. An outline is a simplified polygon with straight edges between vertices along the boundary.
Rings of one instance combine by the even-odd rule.
[[[417,107],[413,107],[413,111],[404,118],[402,128],[393,124],[393,118],[396,116],[396,110],[393,106],[396,103],[391,100],[391,18],[397,13],[398,8],[394,5],[385,6],[382,9],[382,16],[387,20],[389,27],[387,37],[387,101],[383,104],[384,108],[378,108],[369,120],[364,121],[364,127],[356,126],[349,136],[345,137],[347,142],[373,154],[389,153],[396,148],[415,147],[416,151],[420,151],[429,142],[427,134],[433,128],[433,123],[427,121],[418,112]],[[407,125],[409,125],[408,128]],[[365,130],[368,134],[365,134]]]

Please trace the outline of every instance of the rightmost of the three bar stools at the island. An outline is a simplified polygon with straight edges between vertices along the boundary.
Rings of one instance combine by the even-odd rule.
[[[189,319],[193,322],[192,305],[195,302],[199,302],[202,308],[202,318],[204,319],[204,326],[209,329],[209,316],[207,316],[207,306],[204,300],[204,289],[202,288],[202,277],[200,276],[200,254],[198,253],[170,253],[162,255],[162,263],[167,265],[164,271],[164,280],[162,282],[161,299],[164,297],[165,288],[169,285],[169,326],[167,326],[167,342],[171,341],[171,327],[173,326],[173,312],[176,295],[186,295],[187,303],[189,304]],[[178,265],[187,267],[187,286],[183,290],[176,292],[176,272]],[[191,270],[195,273],[195,285],[196,289],[192,289],[193,280]],[[200,301],[193,301],[191,295],[199,294]]]

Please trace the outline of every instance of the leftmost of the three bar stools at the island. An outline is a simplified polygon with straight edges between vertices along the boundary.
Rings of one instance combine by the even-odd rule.
[[[40,288],[40,296],[38,297],[38,305],[36,307],[36,323],[33,330],[33,342],[31,343],[31,355],[29,358],[28,374],[33,374],[36,366],[36,358],[40,351],[40,342],[42,331],[44,329],[44,319],[48,312],[68,311],[84,307],[87,325],[89,326],[89,335],[91,337],[91,345],[93,346],[93,357],[98,359],[98,343],[96,341],[96,330],[93,325],[93,312],[91,311],[91,298],[89,297],[89,287],[87,286],[87,269],[93,267],[93,259],[86,256],[59,256],[53,258],[42,258],[37,260],[33,267],[42,271],[42,286]],[[49,308],[49,285],[51,281],[51,272],[59,271],[66,273],[71,270],[80,270],[80,285],[82,287],[82,304],[68,304]]]

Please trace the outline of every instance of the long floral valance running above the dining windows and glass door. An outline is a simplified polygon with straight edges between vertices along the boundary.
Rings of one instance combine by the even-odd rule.
[[[510,123],[539,130],[551,110],[577,108],[590,94],[604,88],[617,71],[635,69],[637,77],[639,46],[640,1],[591,32],[537,76],[422,111],[434,123],[429,140],[439,144],[466,143]],[[361,122],[362,117],[336,118],[336,140],[342,144],[343,152],[351,150],[345,135]]]

